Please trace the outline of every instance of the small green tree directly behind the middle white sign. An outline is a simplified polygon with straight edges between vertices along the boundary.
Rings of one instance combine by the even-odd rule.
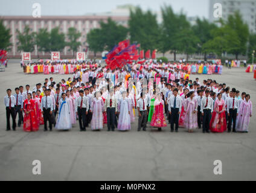
[[[51,51],[63,51],[66,46],[65,34],[59,33],[59,27],[53,28],[50,33],[49,46]]]

